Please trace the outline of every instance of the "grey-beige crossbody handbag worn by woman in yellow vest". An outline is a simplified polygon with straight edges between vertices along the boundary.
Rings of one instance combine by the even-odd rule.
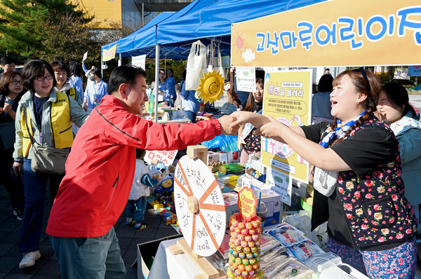
[[[34,142],[29,125],[27,123],[26,107],[23,108],[25,123],[32,142],[31,168],[34,172],[46,173],[48,175],[62,175],[65,173],[65,164],[69,156],[69,148],[43,147]]]

